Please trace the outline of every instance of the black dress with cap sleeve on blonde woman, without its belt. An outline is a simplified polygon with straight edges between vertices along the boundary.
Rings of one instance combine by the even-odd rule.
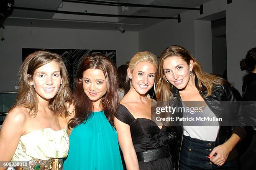
[[[122,104],[118,105],[116,118],[130,126],[131,137],[136,153],[170,145],[177,138],[176,133],[166,126],[162,126],[160,129],[156,123],[150,119],[135,119],[131,112]],[[146,163],[139,161],[138,163],[140,170],[174,169],[172,156]]]

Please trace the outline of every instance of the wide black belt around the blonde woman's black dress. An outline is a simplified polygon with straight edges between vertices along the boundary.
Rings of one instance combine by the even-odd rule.
[[[136,154],[137,154],[138,161],[147,163],[153,160],[159,160],[162,158],[169,157],[170,151],[169,151],[168,145],[165,145],[161,148],[146,150],[144,152],[138,152]]]

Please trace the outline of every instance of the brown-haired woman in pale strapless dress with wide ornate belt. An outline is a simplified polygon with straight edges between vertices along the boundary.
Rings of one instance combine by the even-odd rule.
[[[37,51],[20,68],[19,92],[0,130],[0,161],[28,161],[23,169],[62,169],[68,155],[66,118],[72,95],[58,54]]]

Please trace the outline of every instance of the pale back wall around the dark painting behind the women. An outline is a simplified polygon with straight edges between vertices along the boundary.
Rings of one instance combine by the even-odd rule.
[[[22,48],[117,50],[117,67],[138,52],[138,32],[6,26],[4,37],[0,41],[0,91],[13,91],[18,85]]]

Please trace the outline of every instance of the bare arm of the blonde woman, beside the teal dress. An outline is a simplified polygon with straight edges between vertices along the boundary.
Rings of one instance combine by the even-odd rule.
[[[123,152],[127,170],[139,170],[137,155],[133,147],[130,126],[114,117],[115,128],[118,133],[118,142]]]

